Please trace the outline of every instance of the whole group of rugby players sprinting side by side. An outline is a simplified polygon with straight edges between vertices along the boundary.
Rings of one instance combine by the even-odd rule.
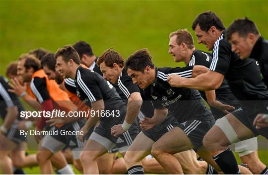
[[[156,67],[148,49],[126,61],[113,48],[96,57],[84,41],[10,63],[10,82],[0,76],[1,173],[74,174],[73,164],[81,174],[268,174],[256,138],[268,139],[268,41],[250,19],[226,29],[211,11],[192,29],[212,53],[187,29],[174,31],[168,52],[182,68]],[[21,99],[87,117],[25,119]],[[21,131],[34,127],[52,134],[35,134],[38,152],[27,154]]]

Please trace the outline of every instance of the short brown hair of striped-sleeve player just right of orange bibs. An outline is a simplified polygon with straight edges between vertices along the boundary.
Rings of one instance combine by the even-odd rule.
[[[69,44],[64,46],[63,48],[59,48],[55,54],[55,59],[59,56],[63,57],[63,60],[67,63],[70,59],[74,61],[76,64],[80,64],[80,58],[76,50]]]

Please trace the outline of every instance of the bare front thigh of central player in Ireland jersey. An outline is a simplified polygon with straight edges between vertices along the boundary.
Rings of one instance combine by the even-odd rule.
[[[153,144],[152,151],[176,154],[193,148],[193,143],[184,131],[179,127],[174,127]]]

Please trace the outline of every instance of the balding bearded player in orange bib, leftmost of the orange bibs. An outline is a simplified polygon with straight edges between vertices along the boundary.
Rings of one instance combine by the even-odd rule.
[[[19,58],[17,66],[17,74],[22,77],[23,82],[31,82],[31,91],[42,106],[42,111],[52,111],[53,109],[61,109],[68,111],[75,111],[74,106],[69,100],[66,92],[59,88],[53,80],[48,80],[45,72],[41,69],[40,61],[31,55],[23,55]],[[61,130],[66,131],[79,131],[83,125],[82,120],[66,125],[57,125],[52,128],[46,127],[47,131],[58,130],[58,135],[46,135],[43,137],[39,144],[39,151],[37,153],[37,160],[43,174],[52,174],[52,167],[50,158],[62,150],[66,145],[72,150],[81,148],[83,143],[78,141],[76,136],[61,135]],[[38,124],[38,130],[42,131],[46,126],[44,116]],[[37,141],[41,138],[35,136]],[[75,153],[75,152],[74,152]],[[59,152],[61,154],[61,152]],[[65,160],[62,155],[63,160]],[[61,168],[61,172],[65,174],[73,174],[71,169],[68,167],[65,160],[64,166]]]

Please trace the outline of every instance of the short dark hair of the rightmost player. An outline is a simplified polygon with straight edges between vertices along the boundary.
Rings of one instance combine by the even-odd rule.
[[[247,36],[249,33],[253,33],[255,35],[260,34],[255,23],[247,17],[243,19],[236,19],[232,22],[227,28],[226,38],[230,40],[232,34],[235,32],[238,32],[239,36]]]

